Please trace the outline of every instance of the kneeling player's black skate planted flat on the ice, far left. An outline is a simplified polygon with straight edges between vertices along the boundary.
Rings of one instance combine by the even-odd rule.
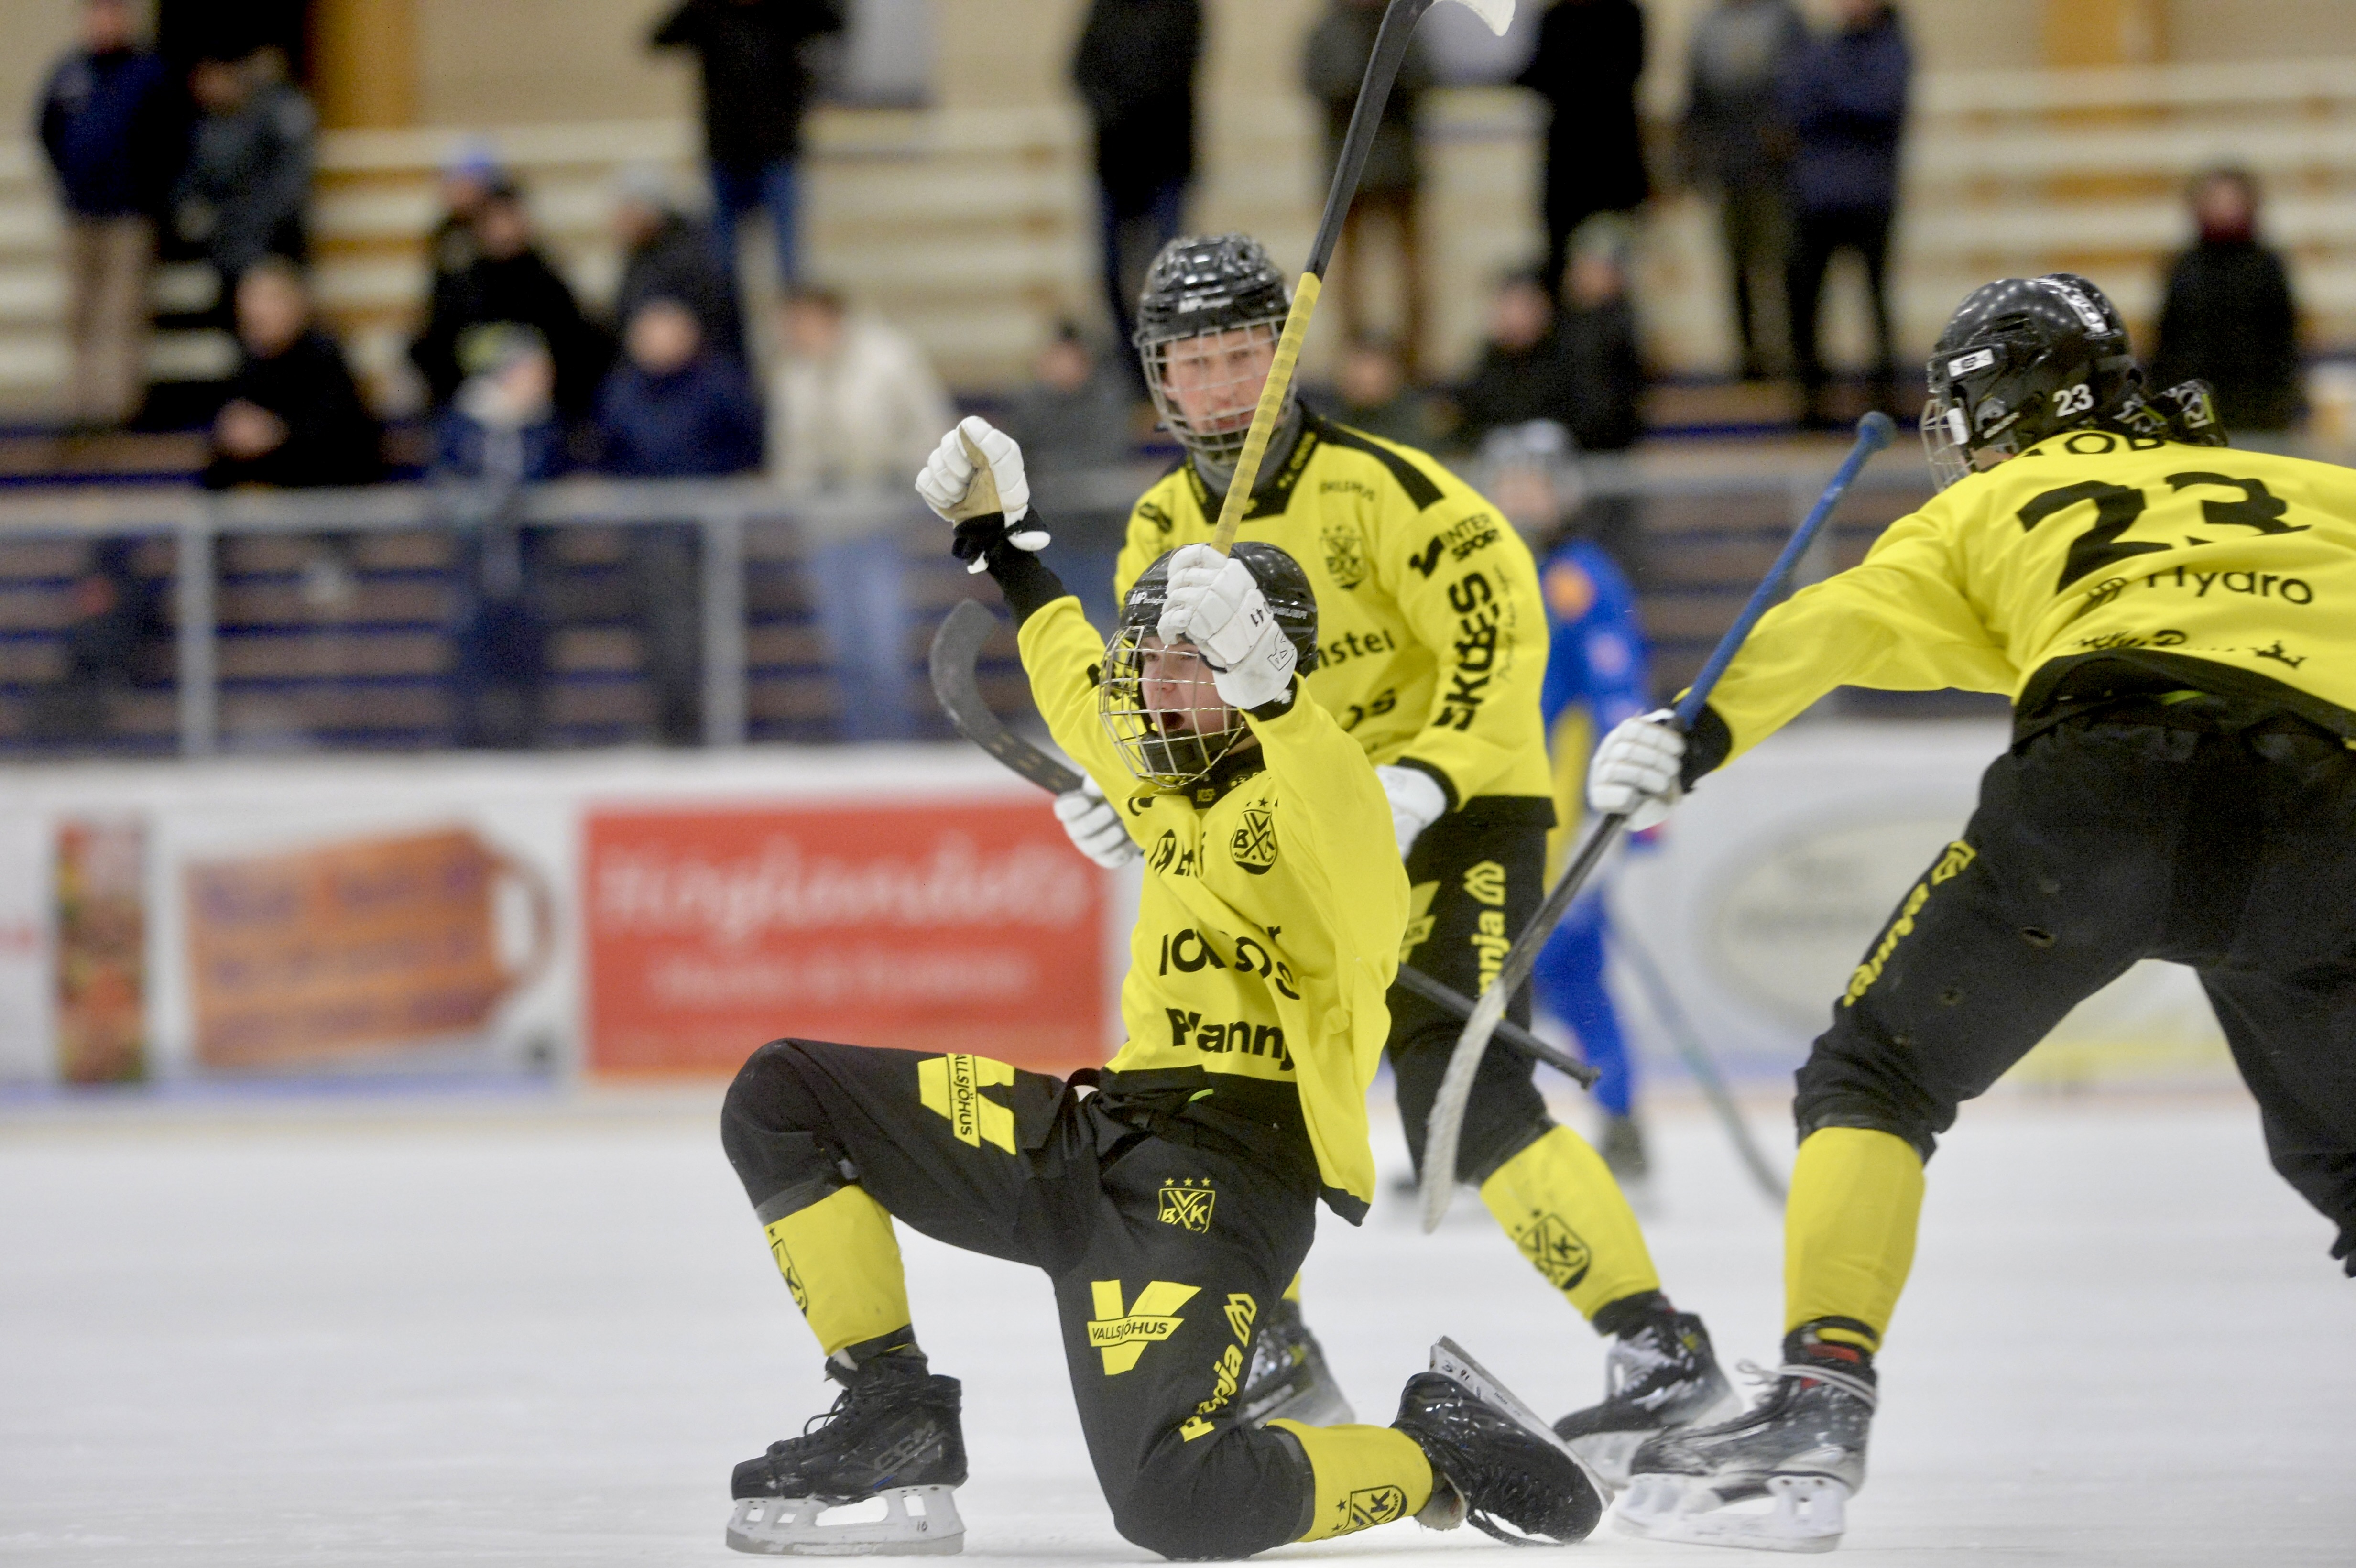
[[[728,1544],[768,1556],[912,1556],[966,1549],[952,1490],[966,1481],[959,1382],[907,1351],[846,1368],[843,1394],[799,1439],[735,1467]],[[827,1521],[843,1504],[874,1507]],[[848,1509],[846,1509],[848,1511]]]

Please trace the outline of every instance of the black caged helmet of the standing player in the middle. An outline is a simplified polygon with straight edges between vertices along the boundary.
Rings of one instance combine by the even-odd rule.
[[[1216,471],[1232,471],[1251,428],[1251,410],[1260,398],[1263,370],[1258,348],[1275,351],[1284,332],[1291,294],[1284,273],[1249,233],[1180,235],[1162,247],[1145,268],[1145,292],[1138,297],[1138,360],[1145,365],[1145,388],[1169,433]],[[1199,351],[1180,351],[1190,339],[1213,337]],[[1213,353],[1216,348],[1216,353]],[[1202,403],[1218,403],[1211,414],[1187,414],[1171,391],[1171,360],[1192,365],[1190,391]],[[1235,360],[1239,370],[1230,372]],[[1242,365],[1251,365],[1242,370]],[[1249,396],[1220,398],[1220,381],[1251,381]],[[1291,393],[1286,393],[1291,398]]]

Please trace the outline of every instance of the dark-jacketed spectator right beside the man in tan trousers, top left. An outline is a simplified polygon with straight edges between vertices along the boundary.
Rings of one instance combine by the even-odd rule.
[[[278,49],[200,59],[188,73],[196,134],[172,191],[172,226],[229,294],[262,257],[302,261],[311,200],[311,101],[285,80]]]

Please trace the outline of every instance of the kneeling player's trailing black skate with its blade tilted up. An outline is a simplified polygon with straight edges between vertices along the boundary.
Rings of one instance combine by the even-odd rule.
[[[1430,1373],[1407,1380],[1392,1427],[1432,1462],[1418,1523],[1454,1530],[1470,1519],[1503,1542],[1567,1547],[1602,1519],[1602,1488],[1579,1455],[1454,1340],[1432,1347]]]

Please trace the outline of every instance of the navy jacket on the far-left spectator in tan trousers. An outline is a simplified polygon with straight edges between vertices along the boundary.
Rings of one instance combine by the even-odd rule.
[[[40,146],[75,217],[153,217],[188,151],[170,71],[155,54],[75,49],[40,94]]]

